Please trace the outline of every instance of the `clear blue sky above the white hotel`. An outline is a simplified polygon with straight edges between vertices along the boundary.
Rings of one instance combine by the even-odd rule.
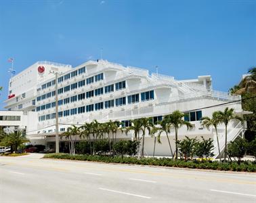
[[[256,66],[256,0],[0,1],[0,110],[11,64],[101,57],[228,91]]]

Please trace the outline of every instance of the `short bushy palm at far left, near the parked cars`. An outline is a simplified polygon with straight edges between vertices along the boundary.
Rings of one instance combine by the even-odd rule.
[[[1,145],[6,147],[11,147],[12,152],[16,152],[18,147],[24,143],[29,142],[29,139],[26,139],[26,136],[22,131],[15,131],[14,133],[6,134],[1,140]]]

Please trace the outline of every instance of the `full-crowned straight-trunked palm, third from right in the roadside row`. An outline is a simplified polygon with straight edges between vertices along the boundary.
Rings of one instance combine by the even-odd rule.
[[[178,149],[177,149],[177,131],[180,127],[182,127],[183,125],[186,125],[187,129],[192,129],[192,125],[190,122],[184,120],[184,113],[180,112],[179,110],[175,110],[172,114],[169,114],[167,116],[165,116],[165,119],[167,119],[167,122],[169,123],[169,125],[171,125],[172,127],[174,127],[175,129],[175,160],[177,160],[177,153],[178,153]]]

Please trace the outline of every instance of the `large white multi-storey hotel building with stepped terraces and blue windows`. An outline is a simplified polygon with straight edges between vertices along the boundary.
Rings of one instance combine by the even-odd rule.
[[[211,137],[217,141],[214,129],[204,129],[200,125],[202,116],[210,116],[216,110],[234,108],[242,116],[239,95],[229,95],[212,89],[211,76],[178,81],[173,76],[149,74],[148,70],[122,66],[106,60],[89,61],[75,68],[52,62],[37,62],[26,68],[9,81],[9,99],[5,101],[7,110],[20,110],[26,116],[26,134],[31,143],[55,146],[55,75],[58,71],[58,115],[59,131],[70,125],[83,125],[96,119],[99,122],[120,120],[130,125],[133,118],[153,117],[161,120],[174,110],[189,112],[193,128],[179,129],[179,139],[189,137]],[[236,101],[228,103],[230,101]],[[226,104],[228,103],[228,104]],[[223,104],[223,105],[219,105]],[[219,106],[215,106],[219,105]],[[205,108],[215,106],[214,108]],[[0,116],[1,125],[1,116]],[[228,125],[228,140],[243,135],[245,127],[234,120]],[[220,147],[224,145],[224,127],[219,129]],[[120,139],[133,139],[133,133],[119,133]],[[174,131],[170,133],[171,145],[175,148]],[[154,139],[146,136],[145,154],[152,154]],[[161,144],[156,145],[156,155],[169,156],[167,137],[163,134]],[[60,149],[65,140],[60,140]]]

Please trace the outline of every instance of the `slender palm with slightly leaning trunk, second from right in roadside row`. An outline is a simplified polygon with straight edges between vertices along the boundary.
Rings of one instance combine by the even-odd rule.
[[[206,127],[208,130],[211,126],[214,127],[215,132],[216,132],[216,137],[217,137],[217,145],[218,145],[218,151],[219,151],[219,161],[221,161],[221,152],[219,149],[219,136],[218,136],[218,131],[217,131],[217,125],[220,123],[219,119],[219,113],[218,112],[213,112],[212,118],[209,118],[208,116],[202,117],[200,119],[202,127]]]

